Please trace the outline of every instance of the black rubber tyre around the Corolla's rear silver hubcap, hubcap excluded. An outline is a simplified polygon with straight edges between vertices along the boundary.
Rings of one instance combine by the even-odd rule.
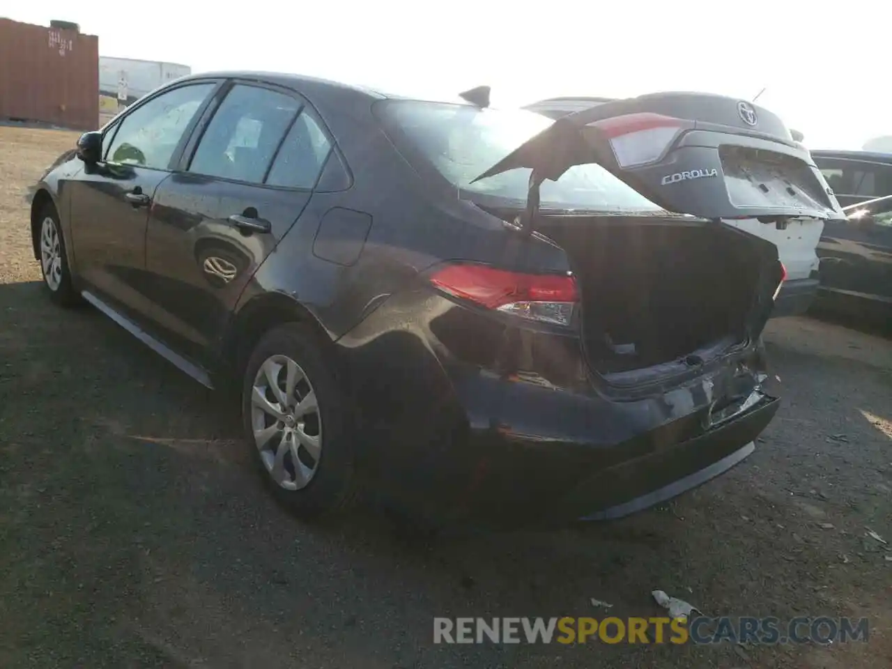
[[[316,393],[318,403],[322,435],[320,457],[309,483],[298,490],[286,490],[274,480],[254,438],[252,392],[255,378],[264,362],[276,356],[285,356],[297,363]],[[355,434],[352,412],[327,364],[323,347],[309,327],[300,323],[277,326],[263,335],[255,346],[244,370],[242,425],[252,461],[264,483],[277,501],[295,516],[317,519],[343,509],[351,500]],[[289,461],[290,458],[289,455]],[[293,464],[291,467],[293,471]]]

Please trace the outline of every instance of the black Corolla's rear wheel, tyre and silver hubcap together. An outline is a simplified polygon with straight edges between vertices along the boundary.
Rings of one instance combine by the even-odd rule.
[[[304,518],[343,507],[353,483],[352,421],[309,328],[278,326],[260,339],[244,373],[242,417],[277,500]]]

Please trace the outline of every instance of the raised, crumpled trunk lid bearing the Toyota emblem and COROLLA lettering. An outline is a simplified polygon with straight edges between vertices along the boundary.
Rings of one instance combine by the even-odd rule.
[[[542,181],[587,163],[668,211],[699,218],[846,218],[810,154],[777,116],[721,95],[642,95],[576,111],[475,181],[532,169],[530,222]]]

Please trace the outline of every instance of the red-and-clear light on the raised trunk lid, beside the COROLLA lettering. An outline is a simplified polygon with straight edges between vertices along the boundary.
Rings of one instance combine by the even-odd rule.
[[[599,120],[594,125],[607,137],[619,166],[630,168],[659,160],[681,129],[691,124],[671,116],[641,112]]]

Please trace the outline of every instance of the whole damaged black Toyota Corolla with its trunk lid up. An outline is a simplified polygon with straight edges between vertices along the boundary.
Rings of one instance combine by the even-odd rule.
[[[301,516],[359,484],[425,518],[623,516],[745,458],[777,410],[772,244],[842,219],[749,103],[552,122],[285,75],[179,79],[37,185],[35,255],[203,384]]]

